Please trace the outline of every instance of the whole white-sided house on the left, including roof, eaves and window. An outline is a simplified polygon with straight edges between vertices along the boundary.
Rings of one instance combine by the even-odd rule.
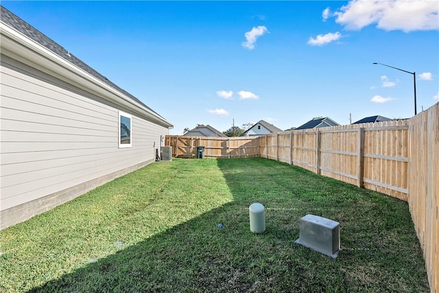
[[[6,228],[154,162],[172,124],[0,8],[0,228]]]

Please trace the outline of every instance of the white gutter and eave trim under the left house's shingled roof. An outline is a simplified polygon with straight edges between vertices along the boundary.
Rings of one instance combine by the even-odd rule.
[[[1,33],[1,54],[10,56],[27,65],[35,67],[49,75],[54,76],[64,82],[73,84],[84,91],[93,93],[102,99],[106,99],[113,104],[128,108],[141,117],[153,121],[161,126],[171,129],[172,124],[166,119],[145,108],[139,102],[124,95],[117,89],[112,88],[102,80],[95,78],[90,73],[80,69],[71,62],[61,58],[46,47],[36,43],[14,28],[0,22]]]

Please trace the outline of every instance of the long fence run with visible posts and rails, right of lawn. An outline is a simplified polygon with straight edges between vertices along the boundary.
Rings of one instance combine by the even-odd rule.
[[[261,156],[407,201],[408,120],[260,137]]]

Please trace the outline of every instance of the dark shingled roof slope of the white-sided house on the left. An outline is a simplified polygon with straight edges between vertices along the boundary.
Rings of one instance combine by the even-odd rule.
[[[82,60],[75,57],[71,52],[67,51],[67,49],[64,49],[61,45],[56,43],[54,40],[51,40],[45,34],[42,32],[36,30],[36,28],[32,27],[32,25],[29,25],[29,23],[26,23],[22,19],[19,18],[19,16],[16,16],[12,12],[10,12],[8,9],[4,8],[2,5],[0,5],[0,14],[1,14],[1,22],[5,23],[5,25],[8,25],[9,27],[12,27],[14,30],[20,32],[24,36],[27,36],[27,38],[30,38],[34,42],[38,43],[39,45],[45,47],[49,51],[53,52],[54,54],[58,55],[60,58],[66,60],[67,62],[71,63],[72,65],[75,65],[75,67],[79,67],[83,71],[86,71],[86,73],[89,73],[93,75],[93,77],[97,78],[101,82],[104,82],[108,86],[110,86],[112,89],[115,89],[119,93],[125,95],[129,99],[132,99],[132,101],[137,102],[137,104],[140,104],[144,108],[146,108],[149,112],[154,113],[156,117],[159,119],[165,121],[165,124],[169,124],[169,122],[166,121],[165,118],[163,118],[161,115],[156,113],[152,108],[146,106],[141,102],[141,100],[137,99],[137,97],[134,97],[134,95],[131,95],[127,91],[121,89],[116,84],[110,82],[108,78],[106,78],[104,75],[100,74],[99,72],[95,71],[95,69],[89,67],[86,65]],[[171,127],[172,124],[169,124],[169,127]]]

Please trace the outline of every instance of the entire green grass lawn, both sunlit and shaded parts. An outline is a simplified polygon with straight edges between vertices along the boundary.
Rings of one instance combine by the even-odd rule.
[[[294,243],[307,213],[340,222],[336,259]],[[429,292],[406,202],[268,159],[147,165],[0,244],[1,292]]]

